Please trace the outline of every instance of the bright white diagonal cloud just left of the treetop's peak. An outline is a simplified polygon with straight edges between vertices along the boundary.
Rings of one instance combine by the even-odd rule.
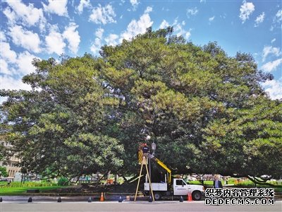
[[[126,31],[121,33],[120,42],[122,42],[123,39],[130,40],[135,35],[145,33],[146,29],[149,28],[152,24],[153,21],[151,21],[149,13],[144,13],[139,20],[131,20]]]

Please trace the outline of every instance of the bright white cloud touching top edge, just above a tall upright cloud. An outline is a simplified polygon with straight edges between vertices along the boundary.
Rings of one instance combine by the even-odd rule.
[[[68,16],[68,0],[48,0],[48,5],[43,4],[44,11],[47,13],[55,13],[58,16]]]

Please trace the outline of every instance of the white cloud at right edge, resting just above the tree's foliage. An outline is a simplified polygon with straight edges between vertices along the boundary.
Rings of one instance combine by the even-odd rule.
[[[269,93],[269,96],[272,100],[281,100],[282,99],[282,79],[276,81],[266,81],[262,83],[264,90]]]

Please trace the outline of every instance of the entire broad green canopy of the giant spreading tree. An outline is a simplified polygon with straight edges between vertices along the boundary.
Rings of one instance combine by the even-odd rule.
[[[35,59],[23,78],[32,90],[1,90],[3,133],[26,170],[134,173],[150,136],[175,173],[280,177],[282,104],[260,86],[273,76],[250,54],[228,57],[172,28],[148,28],[100,54]]]

